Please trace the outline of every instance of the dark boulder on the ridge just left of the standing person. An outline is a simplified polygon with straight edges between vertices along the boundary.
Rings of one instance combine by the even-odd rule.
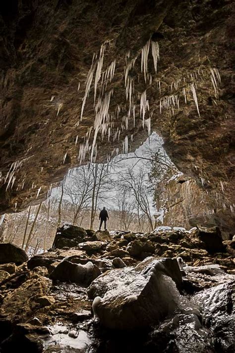
[[[64,224],[57,229],[52,248],[61,249],[63,247],[76,247],[88,236],[85,229],[76,225]]]

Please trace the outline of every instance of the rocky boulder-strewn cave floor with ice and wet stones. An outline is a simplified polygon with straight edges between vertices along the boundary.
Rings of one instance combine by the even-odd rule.
[[[29,260],[0,244],[0,263],[0,352],[235,350],[235,241],[218,228],[64,225]]]

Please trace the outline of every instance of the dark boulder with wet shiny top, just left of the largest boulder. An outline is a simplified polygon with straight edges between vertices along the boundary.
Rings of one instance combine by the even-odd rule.
[[[61,282],[75,282],[88,285],[100,275],[100,269],[91,262],[80,265],[64,260],[52,271],[50,278]]]

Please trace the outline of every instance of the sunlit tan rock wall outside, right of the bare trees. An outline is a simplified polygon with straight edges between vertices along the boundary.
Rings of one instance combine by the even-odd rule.
[[[195,180],[182,173],[166,175],[156,188],[157,225],[213,227],[220,225],[224,239],[232,238],[229,228],[221,222],[217,209],[210,209],[210,194],[205,193]],[[216,204],[215,204],[216,205]],[[216,206],[215,206],[216,207]]]

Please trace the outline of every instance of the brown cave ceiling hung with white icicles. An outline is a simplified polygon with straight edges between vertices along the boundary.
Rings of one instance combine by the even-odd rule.
[[[234,229],[234,13],[232,0],[1,3],[0,213],[151,130]]]

